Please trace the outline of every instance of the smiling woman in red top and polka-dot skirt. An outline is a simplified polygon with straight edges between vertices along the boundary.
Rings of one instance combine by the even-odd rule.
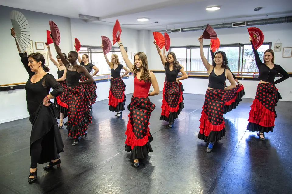
[[[131,103],[128,105],[130,111],[129,122],[127,124],[127,135],[125,150],[131,152],[131,159],[134,159],[134,166],[139,166],[139,159],[148,156],[153,152],[150,142],[153,137],[150,133],[149,119],[151,112],[155,109],[155,104],[150,102],[148,96],[159,94],[159,86],[153,72],[148,70],[147,56],[144,52],[138,52],[134,56],[134,65],[129,60],[122,41],[118,42],[123,59],[134,75],[134,93]],[[154,91],[149,93],[150,86]]]

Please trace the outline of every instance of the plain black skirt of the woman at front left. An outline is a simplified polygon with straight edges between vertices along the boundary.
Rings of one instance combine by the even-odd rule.
[[[58,159],[58,154],[64,152],[64,144],[56,120],[57,115],[58,112],[53,103],[49,106],[41,103],[36,112],[30,115],[29,120],[33,125],[30,135],[30,154],[33,143],[43,138],[41,156],[37,162],[39,164]]]

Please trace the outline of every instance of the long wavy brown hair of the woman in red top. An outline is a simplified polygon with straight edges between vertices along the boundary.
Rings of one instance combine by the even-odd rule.
[[[142,61],[142,65],[140,68],[143,68],[143,73],[141,73],[140,75],[140,79],[139,81],[141,80],[144,80],[144,82],[150,82],[151,83],[151,78],[150,78],[150,75],[149,75],[149,69],[148,69],[148,60],[147,60],[147,56],[145,55],[144,52],[137,52],[136,55],[138,55],[138,57],[141,59]],[[134,77],[136,77],[137,73],[140,71],[136,65],[135,65],[135,57],[136,55],[134,56],[134,65],[133,65],[133,74],[134,74]]]

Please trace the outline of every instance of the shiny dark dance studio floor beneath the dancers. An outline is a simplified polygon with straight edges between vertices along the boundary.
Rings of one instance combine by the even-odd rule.
[[[29,120],[0,124],[0,193],[291,193],[292,102],[278,103],[274,132],[260,141],[256,132],[245,130],[252,99],[244,98],[225,115],[226,136],[208,154],[207,143],[197,139],[204,96],[184,98],[185,108],[169,128],[159,120],[162,94],[150,97],[156,105],[150,118],[154,152],[138,168],[124,151],[128,111],[118,119],[108,111],[108,100],[96,102],[87,137],[72,146],[66,129],[60,129],[61,168],[45,172],[45,164],[38,165],[31,185]]]

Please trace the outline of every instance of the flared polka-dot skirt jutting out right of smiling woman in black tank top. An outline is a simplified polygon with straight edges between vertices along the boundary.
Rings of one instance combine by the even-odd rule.
[[[239,102],[242,101],[243,95],[245,95],[243,85],[237,85],[236,88],[225,91],[225,106],[223,114],[235,109]]]

